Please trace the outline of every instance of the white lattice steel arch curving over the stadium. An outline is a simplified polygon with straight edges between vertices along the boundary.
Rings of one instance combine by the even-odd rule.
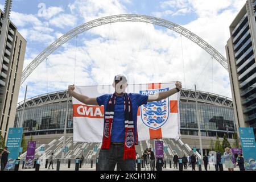
[[[22,79],[21,83],[23,83],[26,78],[35,70],[36,67],[43,60],[45,60],[52,52],[54,52],[57,48],[63,45],[68,40],[72,39],[76,35],[81,34],[91,28],[102,26],[104,24],[109,23],[117,23],[117,22],[143,22],[143,23],[151,23],[158,26],[166,27],[170,30],[173,30],[180,35],[185,36],[189,40],[192,40],[198,46],[203,48],[206,52],[208,52],[214,59],[216,59],[222,67],[224,67],[228,71],[228,63],[224,56],[221,55],[216,49],[214,49],[210,44],[205,42],[199,36],[194,34],[193,32],[187,30],[186,28],[179,26],[179,24],[170,22],[165,19],[156,18],[154,16],[146,16],[146,15],[138,15],[138,14],[122,14],[122,15],[112,15],[112,16],[105,16],[103,18],[94,19],[90,22],[81,24],[80,26],[73,28],[71,31],[64,34],[59,39],[55,40],[51,45],[49,45],[44,51],[42,51],[36,58],[24,69],[22,72]]]

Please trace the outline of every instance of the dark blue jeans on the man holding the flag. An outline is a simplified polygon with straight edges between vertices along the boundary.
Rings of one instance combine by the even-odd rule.
[[[114,171],[119,164],[121,171],[136,171],[136,160],[123,160],[123,144],[111,144],[109,149],[101,149],[98,156],[98,171]]]

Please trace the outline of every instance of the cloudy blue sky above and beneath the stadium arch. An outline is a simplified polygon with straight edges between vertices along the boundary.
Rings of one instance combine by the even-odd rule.
[[[174,22],[204,39],[224,57],[229,25],[245,0],[13,0],[11,21],[27,40],[25,69],[56,39],[90,20],[142,14]],[[5,1],[0,0],[3,10]],[[191,40],[150,23],[119,22],[75,36],[48,56],[20,87],[18,102],[75,85],[179,80],[183,88],[232,98],[228,71]]]

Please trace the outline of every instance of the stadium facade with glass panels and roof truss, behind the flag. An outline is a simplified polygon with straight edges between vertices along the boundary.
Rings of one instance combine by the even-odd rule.
[[[199,119],[201,123],[201,135],[203,148],[210,149],[210,143],[216,140],[216,136],[228,135],[230,143],[233,143],[233,135],[236,132],[234,121],[233,102],[230,98],[213,93],[197,91],[199,94]],[[197,136],[195,91],[183,89],[180,95],[180,133],[181,140],[191,148],[199,147]],[[25,102],[23,128],[27,139],[32,136],[37,146],[52,142],[63,136],[65,113],[67,106],[67,90],[42,94],[28,98]],[[14,126],[18,125],[23,110],[23,102],[18,103]],[[72,99],[69,98],[67,135],[72,137]],[[212,140],[212,142],[211,142]]]

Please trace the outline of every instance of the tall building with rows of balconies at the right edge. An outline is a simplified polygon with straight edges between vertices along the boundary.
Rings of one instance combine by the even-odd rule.
[[[256,133],[256,1],[247,0],[230,24],[226,45],[237,127]]]

